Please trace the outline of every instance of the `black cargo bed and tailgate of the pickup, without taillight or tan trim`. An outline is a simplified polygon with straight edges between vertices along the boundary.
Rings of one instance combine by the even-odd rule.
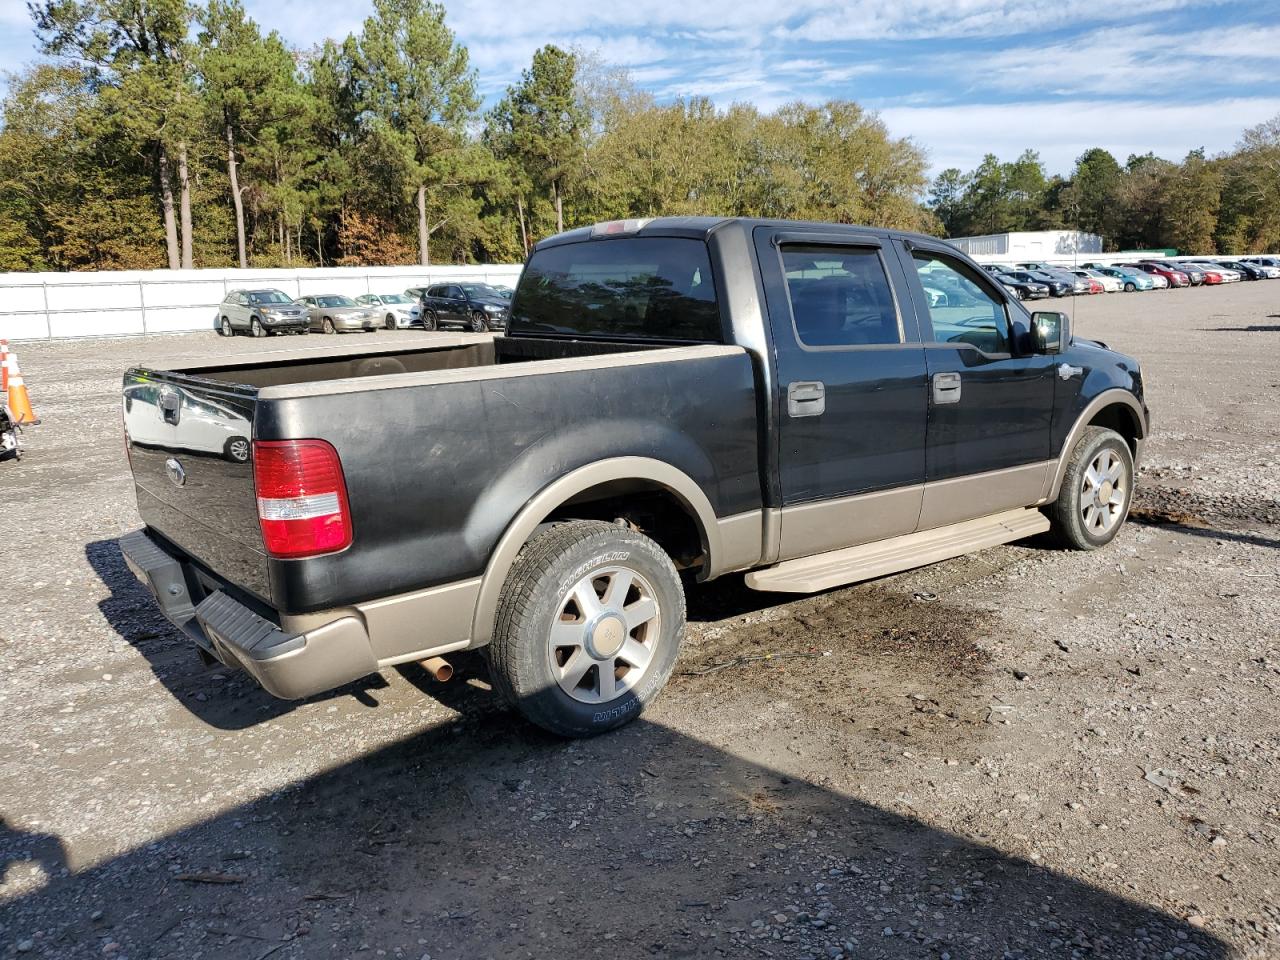
[[[474,335],[308,346],[134,367],[124,424],[150,532],[206,571],[206,588],[264,616],[477,576],[521,504],[608,457],[671,462],[717,516],[760,506],[755,380],[740,347]],[[355,540],[273,559],[251,443],[297,438],[337,449]]]

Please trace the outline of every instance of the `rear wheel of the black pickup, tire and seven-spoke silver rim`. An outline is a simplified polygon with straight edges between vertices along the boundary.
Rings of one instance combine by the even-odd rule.
[[[557,524],[525,544],[507,576],[490,678],[544,730],[595,736],[653,701],[684,632],[684,586],[657,543],[616,524]]]

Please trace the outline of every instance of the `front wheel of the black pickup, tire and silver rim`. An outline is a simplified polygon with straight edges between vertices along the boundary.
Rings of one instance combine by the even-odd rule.
[[[1096,550],[1111,543],[1133,503],[1133,453],[1115,430],[1088,426],[1071,451],[1057,500],[1048,508],[1062,547]]]

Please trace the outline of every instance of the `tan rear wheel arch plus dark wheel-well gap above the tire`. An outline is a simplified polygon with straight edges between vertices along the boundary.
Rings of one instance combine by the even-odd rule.
[[[507,525],[485,567],[480,594],[476,599],[471,627],[471,645],[481,646],[493,637],[498,596],[516,556],[539,526],[572,515],[572,508],[584,504],[617,504],[628,498],[653,497],[675,504],[696,530],[701,547],[700,579],[710,579],[721,571],[721,530],[716,511],[698,483],[682,470],[649,457],[613,457],[573,470],[539,490],[515,520]],[[568,511],[566,513],[566,511]],[[649,534],[653,536],[653,534]],[[663,548],[669,536],[659,531],[653,536]]]

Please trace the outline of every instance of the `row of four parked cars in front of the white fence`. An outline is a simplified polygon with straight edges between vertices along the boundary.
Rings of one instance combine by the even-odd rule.
[[[471,282],[358,297],[314,293],[297,300],[276,289],[230,291],[218,306],[218,332],[223,337],[266,337],[461,326],[485,333],[506,328],[511,294],[509,287]]]

